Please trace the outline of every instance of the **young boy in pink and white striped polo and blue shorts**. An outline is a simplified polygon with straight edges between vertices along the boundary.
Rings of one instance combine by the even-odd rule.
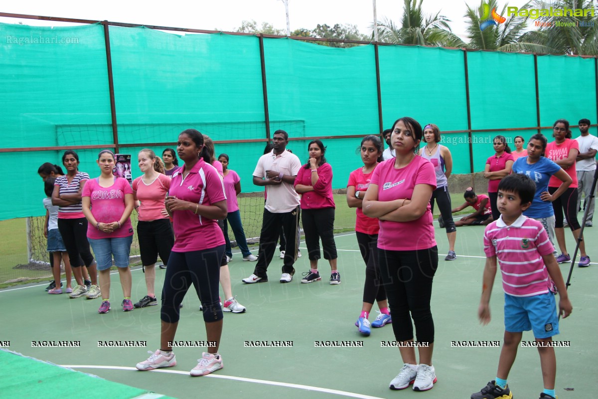
[[[541,399],[556,399],[554,379],[556,357],[550,346],[559,334],[559,318],[552,287],[559,292],[559,312],[569,316],[572,306],[553,246],[542,224],[523,216],[532,205],[536,185],[521,174],[508,175],[498,186],[497,206],[501,217],[486,227],[484,252],[486,267],[478,316],[482,324],[490,322],[490,294],[496,276],[496,260],[501,265],[505,291],[505,338],[498,362],[496,380],[471,395],[471,399],[511,399],[507,377],[517,355],[523,331],[533,330],[544,379]],[[554,282],[554,283],[553,283]]]

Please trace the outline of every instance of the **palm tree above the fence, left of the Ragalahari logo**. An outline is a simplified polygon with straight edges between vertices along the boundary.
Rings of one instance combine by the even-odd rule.
[[[459,36],[451,32],[449,22],[440,13],[424,15],[422,1],[404,0],[401,27],[390,19],[377,23],[381,42],[395,44],[442,45],[446,47],[464,47]],[[374,28],[374,26],[371,26]]]

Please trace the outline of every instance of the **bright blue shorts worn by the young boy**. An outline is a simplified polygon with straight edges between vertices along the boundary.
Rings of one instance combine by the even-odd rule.
[[[533,330],[535,338],[548,338],[559,334],[554,294],[532,297],[505,294],[505,330],[509,333]]]

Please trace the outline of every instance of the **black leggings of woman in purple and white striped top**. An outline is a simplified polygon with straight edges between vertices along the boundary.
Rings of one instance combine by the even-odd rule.
[[[65,243],[66,251],[69,253],[71,267],[81,267],[83,264],[87,267],[91,266],[93,255],[91,255],[87,240],[87,219],[59,218],[58,230]]]

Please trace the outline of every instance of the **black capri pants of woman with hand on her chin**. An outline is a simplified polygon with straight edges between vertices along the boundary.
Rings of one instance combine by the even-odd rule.
[[[338,258],[334,242],[334,208],[303,209],[301,221],[309,259],[320,258],[320,239],[324,247],[324,259]]]

